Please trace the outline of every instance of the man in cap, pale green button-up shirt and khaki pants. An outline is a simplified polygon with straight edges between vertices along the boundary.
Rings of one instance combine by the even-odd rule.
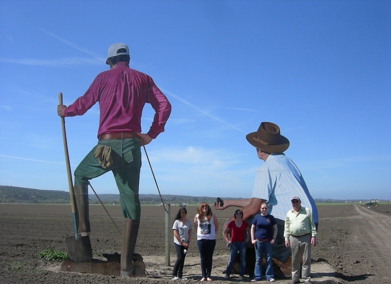
[[[291,199],[292,209],[285,217],[284,238],[285,246],[292,252],[292,282],[300,282],[300,255],[303,256],[301,278],[309,283],[311,280],[311,245],[317,245],[317,229],[311,210],[301,207],[300,198]]]

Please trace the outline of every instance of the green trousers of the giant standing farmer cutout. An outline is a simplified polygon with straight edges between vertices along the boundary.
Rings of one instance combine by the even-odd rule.
[[[94,157],[98,145],[109,146],[113,164],[103,168]],[[138,186],[141,168],[140,144],[135,138],[100,140],[74,171],[74,185],[88,184],[90,179],[112,171],[120,194],[122,214],[127,219],[140,220]],[[88,186],[83,186],[88,195]],[[88,206],[88,205],[87,205]]]

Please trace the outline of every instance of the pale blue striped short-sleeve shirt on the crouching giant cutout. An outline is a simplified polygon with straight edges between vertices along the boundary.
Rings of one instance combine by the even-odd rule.
[[[252,197],[266,200],[268,214],[285,220],[286,213],[292,209],[293,196],[300,198],[301,206],[309,208],[315,223],[318,223],[315,201],[297,166],[285,154],[271,153],[258,169]]]

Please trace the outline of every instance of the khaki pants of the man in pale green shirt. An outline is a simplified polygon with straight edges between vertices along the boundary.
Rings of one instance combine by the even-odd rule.
[[[300,258],[303,259],[301,266],[301,278],[304,282],[310,281],[311,270],[311,234],[301,237],[289,237],[292,251],[292,281],[300,281]]]

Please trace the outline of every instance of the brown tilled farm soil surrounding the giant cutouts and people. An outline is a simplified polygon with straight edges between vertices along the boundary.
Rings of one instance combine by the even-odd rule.
[[[101,206],[91,206],[91,243],[97,254],[120,253],[121,236]],[[119,206],[106,206],[119,230]],[[236,208],[215,212],[220,228]],[[171,207],[171,219],[178,207]],[[389,283],[388,257],[391,255],[391,205],[367,208],[364,205],[318,206],[318,245],[312,248],[313,283]],[[188,207],[189,217],[196,207]],[[176,256],[171,245],[171,266],[165,265],[165,211],[162,206],[143,206],[136,252],[141,254],[146,277],[60,271],[62,261],[39,258],[44,249],[66,251],[65,237],[73,235],[70,206],[0,205],[0,283],[172,283]],[[170,221],[170,226],[172,221]],[[172,236],[170,236],[172,240]],[[213,256],[213,282],[226,283],[223,271],[228,250],[218,234]],[[188,250],[184,274],[188,281],[200,277],[198,249],[193,240]],[[238,281],[231,278],[232,281]],[[250,281],[250,278],[246,279]],[[277,279],[288,283],[289,279]]]

